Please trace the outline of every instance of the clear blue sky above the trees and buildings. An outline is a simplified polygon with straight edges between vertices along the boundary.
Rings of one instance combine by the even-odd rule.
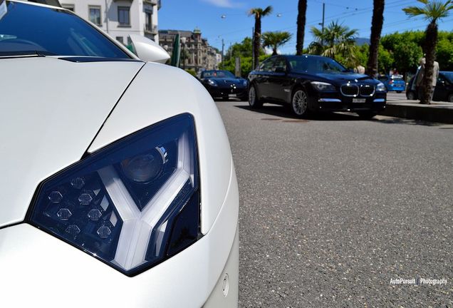
[[[326,24],[339,21],[351,29],[358,29],[359,37],[370,37],[373,0],[308,0],[304,47],[313,41],[311,26],[322,19],[323,2],[326,4]],[[198,27],[209,44],[225,52],[230,44],[251,36],[254,18],[247,16],[253,7],[274,7],[271,16],[262,19],[262,32],[288,31],[293,38],[281,48],[282,53],[296,52],[297,0],[162,0],[159,11],[160,29],[193,30]],[[382,34],[396,31],[424,30],[422,18],[409,19],[402,8],[418,5],[416,0],[385,1]],[[224,15],[224,18],[222,18]],[[453,31],[453,14],[439,23],[440,30]]]

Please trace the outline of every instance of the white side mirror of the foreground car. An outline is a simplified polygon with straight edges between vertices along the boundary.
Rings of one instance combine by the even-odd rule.
[[[170,58],[170,55],[159,44],[151,41],[145,36],[130,34],[132,48],[137,57],[142,61],[165,63]]]

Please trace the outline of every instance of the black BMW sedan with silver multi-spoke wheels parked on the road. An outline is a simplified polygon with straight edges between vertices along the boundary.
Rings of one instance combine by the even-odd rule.
[[[353,73],[323,56],[272,56],[249,73],[249,104],[291,106],[296,116],[309,111],[351,111],[373,118],[385,108],[385,85]]]

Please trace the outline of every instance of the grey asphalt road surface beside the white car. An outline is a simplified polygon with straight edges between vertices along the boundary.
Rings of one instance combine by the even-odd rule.
[[[217,106],[239,180],[239,307],[452,307],[453,125]]]

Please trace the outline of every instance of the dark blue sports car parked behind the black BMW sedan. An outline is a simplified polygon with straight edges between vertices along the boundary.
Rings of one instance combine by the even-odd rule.
[[[240,98],[247,101],[247,88],[249,82],[244,78],[234,76],[229,71],[202,71],[200,75],[202,81],[212,98]]]

